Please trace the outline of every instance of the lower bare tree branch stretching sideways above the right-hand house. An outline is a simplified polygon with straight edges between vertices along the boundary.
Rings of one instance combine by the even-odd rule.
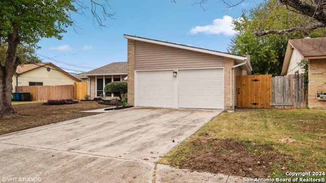
[[[263,32],[255,32],[255,35],[256,36],[265,36],[265,35],[268,35],[268,34],[288,34],[288,33],[291,33],[291,32],[295,32],[295,31],[300,31],[300,32],[303,32],[303,33],[308,33],[310,31],[313,31],[314,29],[316,28],[320,28],[320,27],[326,27],[326,24],[324,23],[316,23],[316,24],[313,24],[313,25],[310,25],[310,26],[307,26],[307,27],[291,27],[291,28],[287,28],[287,29],[282,29],[282,30],[268,30],[268,31],[263,31]]]

